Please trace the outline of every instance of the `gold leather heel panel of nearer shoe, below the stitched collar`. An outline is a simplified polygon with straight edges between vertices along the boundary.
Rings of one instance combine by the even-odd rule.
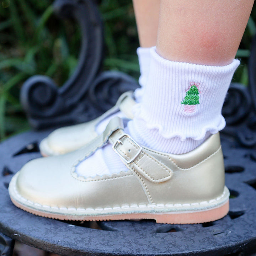
[[[200,203],[222,195],[225,170],[221,147],[190,168],[173,168],[173,176],[160,184],[143,178],[153,202]]]

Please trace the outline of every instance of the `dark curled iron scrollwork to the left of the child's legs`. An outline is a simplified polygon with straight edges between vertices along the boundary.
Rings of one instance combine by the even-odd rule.
[[[49,77],[38,75],[23,84],[21,103],[34,128],[89,121],[113,106],[122,92],[138,87],[128,75],[100,73],[103,26],[94,1],[56,0],[53,7],[60,18],[72,17],[79,23],[81,50],[74,74],[62,87],[58,88]],[[118,86],[112,88],[117,81]],[[98,97],[100,94],[103,97]]]

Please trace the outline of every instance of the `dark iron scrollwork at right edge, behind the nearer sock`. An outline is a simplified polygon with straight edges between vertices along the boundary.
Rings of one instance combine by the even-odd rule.
[[[256,36],[249,58],[249,87],[231,84],[222,113],[226,127],[222,133],[236,138],[245,147],[256,146]]]

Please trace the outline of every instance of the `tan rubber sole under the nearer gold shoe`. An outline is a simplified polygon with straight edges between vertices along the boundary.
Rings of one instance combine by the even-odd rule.
[[[171,212],[171,213],[124,213],[124,214],[111,214],[111,215],[97,215],[97,216],[81,216],[81,215],[61,215],[55,213],[42,212],[36,209],[28,208],[23,204],[18,203],[11,197],[11,201],[22,210],[26,212],[59,220],[78,220],[78,221],[103,221],[103,220],[129,220],[129,219],[154,219],[156,223],[166,224],[196,224],[211,222],[223,218],[228,214],[229,201],[220,207],[209,210],[197,212]]]

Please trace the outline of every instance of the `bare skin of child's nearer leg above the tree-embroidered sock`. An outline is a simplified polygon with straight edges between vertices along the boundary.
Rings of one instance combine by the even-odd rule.
[[[253,3],[254,0],[161,0],[156,52],[178,62],[230,64]]]

